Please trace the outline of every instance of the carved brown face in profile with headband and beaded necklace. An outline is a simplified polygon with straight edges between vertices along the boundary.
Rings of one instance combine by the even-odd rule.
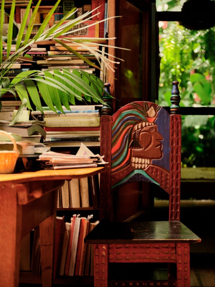
[[[157,125],[153,122],[141,122],[133,127],[133,144],[131,144],[131,165],[135,169],[146,169],[152,159],[163,156],[163,137],[158,133]],[[135,139],[134,139],[135,138]],[[134,143],[137,141],[137,143]]]

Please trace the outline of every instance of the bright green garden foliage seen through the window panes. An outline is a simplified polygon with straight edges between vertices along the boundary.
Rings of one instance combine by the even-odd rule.
[[[178,5],[182,1],[162,1],[163,10],[168,4],[174,7],[173,2]],[[170,85],[177,80],[180,106],[214,107],[214,41],[214,27],[189,30],[178,22],[159,22],[161,59],[158,103],[161,106],[170,106]],[[182,116],[183,166],[214,166],[214,122],[214,115]]]

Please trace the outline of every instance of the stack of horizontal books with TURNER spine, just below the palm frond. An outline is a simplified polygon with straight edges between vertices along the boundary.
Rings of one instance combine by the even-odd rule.
[[[36,110],[31,112],[35,120],[44,120],[46,126],[45,143],[78,146],[80,142],[100,145],[100,110],[102,105],[63,107],[64,113],[57,113],[43,107],[44,114]],[[79,143],[79,144],[78,144]]]

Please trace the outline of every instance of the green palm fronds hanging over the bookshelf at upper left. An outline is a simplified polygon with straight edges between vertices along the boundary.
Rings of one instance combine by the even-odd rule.
[[[33,38],[30,38],[35,22],[36,13],[38,7],[40,6],[41,0],[37,2],[36,7],[33,10],[30,22],[28,24],[25,38],[22,41],[27,16],[32,4],[32,0],[29,1],[28,6],[26,7],[25,16],[21,23],[20,29],[18,29],[18,26],[14,21],[16,0],[12,1],[7,37],[2,36],[3,17],[5,14],[4,0],[2,0],[0,10],[0,110],[2,106],[1,97],[5,93],[12,93],[15,98],[18,94],[19,98],[22,100],[22,106],[18,110],[17,115],[10,123],[10,125],[14,124],[18,120],[24,106],[27,106],[27,108],[32,110],[29,97],[31,98],[33,104],[41,112],[43,112],[39,93],[41,94],[41,97],[43,98],[45,104],[53,111],[56,111],[57,109],[63,112],[62,105],[69,110],[69,104],[75,104],[75,99],[89,102],[93,100],[94,102],[104,104],[101,98],[104,82],[102,82],[95,75],[91,75],[83,71],[73,70],[73,72],[70,72],[67,69],[62,69],[62,71],[54,69],[52,71],[48,70],[41,73],[40,70],[28,70],[20,73],[18,76],[13,78],[12,81],[10,81],[10,79],[5,76],[7,71],[12,66],[13,62],[19,61],[20,57],[25,56],[27,59],[29,57],[29,61],[31,60],[30,56],[27,54],[30,44],[38,43],[44,40],[55,40],[56,42],[64,46],[66,49],[74,53],[76,56],[83,59],[85,62],[88,62],[90,65],[100,69],[99,66],[96,66],[89,59],[85,58],[81,54],[78,54],[75,50],[72,49],[71,46],[68,46],[67,43],[76,42],[77,45],[88,47],[88,50],[96,56],[96,59],[99,64],[101,63],[101,61],[104,61],[104,65],[107,67],[107,69],[110,68],[110,64],[108,62],[110,60],[108,60],[108,57],[104,57],[104,54],[101,54],[98,50],[92,50],[89,46],[87,46],[87,43],[89,42],[97,42],[99,40],[98,38],[67,38],[67,34],[71,34],[72,27],[76,26],[78,23],[82,23],[85,20],[92,18],[90,14],[94,10],[75,18],[74,20],[69,20],[65,22],[65,20],[68,19],[72,14],[76,13],[76,8],[74,8],[53,27],[49,28],[48,30],[44,30],[60,1],[61,0],[56,1],[53,8],[50,10],[49,14],[44,19],[37,34],[35,34]],[[74,30],[74,32],[76,32],[76,30]],[[59,38],[60,36],[61,38]],[[62,38],[62,36],[64,36],[65,38]],[[12,39],[12,41],[16,43],[16,49],[13,53],[10,53],[12,41],[8,41],[8,39]],[[2,58],[2,45],[4,42],[7,43],[6,60],[3,60]],[[97,45],[108,47],[108,45],[100,43],[97,43]]]

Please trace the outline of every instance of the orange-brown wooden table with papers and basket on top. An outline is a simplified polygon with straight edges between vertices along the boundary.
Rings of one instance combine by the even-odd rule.
[[[53,284],[57,189],[104,167],[0,174],[0,286],[18,286],[20,241],[40,226],[42,284]]]

